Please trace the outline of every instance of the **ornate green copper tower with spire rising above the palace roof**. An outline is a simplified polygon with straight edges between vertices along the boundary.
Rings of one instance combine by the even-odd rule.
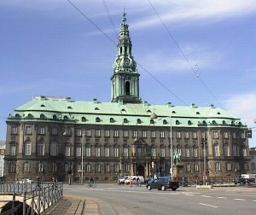
[[[111,77],[111,102],[141,103],[139,97],[139,76],[137,63],[131,55],[131,38],[125,12],[120,25],[117,55],[113,62]]]

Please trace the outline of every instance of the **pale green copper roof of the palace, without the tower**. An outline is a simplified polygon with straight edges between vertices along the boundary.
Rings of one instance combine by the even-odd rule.
[[[156,119],[150,119],[152,114]],[[55,115],[55,117],[54,117]],[[139,104],[121,102],[72,101],[70,97],[56,98],[35,96],[30,102],[15,109],[8,121],[23,120],[56,120],[74,124],[102,125],[154,125],[180,127],[207,126],[245,126],[240,119],[220,108],[187,106],[150,105],[148,102]],[[84,118],[84,119],[83,119]],[[113,119],[112,122],[110,119]],[[151,121],[150,121],[151,120]],[[140,121],[140,123],[138,123]]]

